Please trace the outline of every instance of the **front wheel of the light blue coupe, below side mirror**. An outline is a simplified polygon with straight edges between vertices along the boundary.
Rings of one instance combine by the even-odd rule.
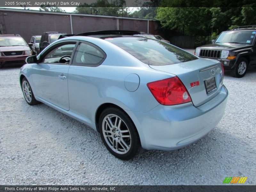
[[[31,89],[30,84],[28,83],[28,80],[24,77],[21,81],[21,89],[24,95],[25,100],[29,105],[36,105],[39,103],[34,97],[33,91]]]

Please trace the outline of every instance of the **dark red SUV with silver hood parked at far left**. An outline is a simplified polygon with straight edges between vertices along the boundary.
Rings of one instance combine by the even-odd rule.
[[[0,35],[0,68],[4,65],[23,65],[32,54],[20,35]]]

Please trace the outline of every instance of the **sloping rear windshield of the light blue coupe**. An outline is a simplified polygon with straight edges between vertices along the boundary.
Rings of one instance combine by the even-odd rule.
[[[106,38],[148,65],[171,65],[196,60],[197,57],[162,41],[143,37]]]

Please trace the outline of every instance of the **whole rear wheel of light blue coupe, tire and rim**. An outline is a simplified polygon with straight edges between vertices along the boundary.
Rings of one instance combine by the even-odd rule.
[[[118,108],[107,108],[99,120],[101,139],[110,153],[122,160],[140,151],[140,138],[130,117]]]

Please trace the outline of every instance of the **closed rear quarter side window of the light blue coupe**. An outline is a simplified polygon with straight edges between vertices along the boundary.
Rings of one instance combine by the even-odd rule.
[[[99,66],[106,58],[105,53],[97,46],[89,43],[80,43],[76,49],[72,65]]]

